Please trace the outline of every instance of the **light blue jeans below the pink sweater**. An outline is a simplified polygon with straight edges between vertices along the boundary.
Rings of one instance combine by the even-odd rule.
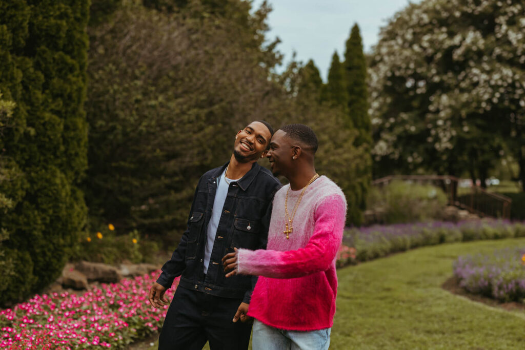
[[[255,320],[251,338],[253,350],[327,350],[332,328],[319,331],[286,331]]]

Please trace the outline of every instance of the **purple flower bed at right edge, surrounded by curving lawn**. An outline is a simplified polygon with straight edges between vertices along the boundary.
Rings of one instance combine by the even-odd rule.
[[[490,256],[464,256],[454,275],[465,290],[499,301],[525,299],[525,248],[497,250]]]

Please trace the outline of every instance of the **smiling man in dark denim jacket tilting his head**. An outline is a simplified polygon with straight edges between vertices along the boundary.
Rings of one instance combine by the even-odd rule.
[[[266,247],[271,203],[281,184],[257,164],[273,134],[264,121],[235,136],[228,163],[199,179],[187,229],[150,289],[154,307],[181,275],[159,338],[159,349],[246,349],[251,322],[246,315],[257,277],[225,278],[222,257],[234,248]],[[240,320],[241,322],[237,322]]]

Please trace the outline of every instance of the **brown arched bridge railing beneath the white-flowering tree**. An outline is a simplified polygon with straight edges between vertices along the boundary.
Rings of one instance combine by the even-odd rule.
[[[510,218],[512,200],[497,193],[487,192],[486,189],[472,184],[465,188],[466,192],[458,194],[459,178],[449,175],[391,175],[376,179],[374,186],[385,186],[394,180],[414,182],[418,184],[432,184],[443,189],[448,198],[448,204],[470,211],[479,216],[496,218]]]

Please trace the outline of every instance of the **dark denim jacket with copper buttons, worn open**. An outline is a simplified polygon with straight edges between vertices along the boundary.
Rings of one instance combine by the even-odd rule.
[[[257,277],[234,275],[226,278],[221,259],[235,248],[265,249],[271,216],[271,203],[281,187],[268,169],[257,163],[243,178],[231,182],[224,201],[208,271],[204,276],[206,227],[212,216],[217,178],[228,163],[212,169],[199,179],[188,216],[187,229],[162,267],[157,282],[170,288],[175,277],[181,276],[180,287],[226,298],[239,298],[249,303]],[[218,209],[220,210],[220,209]]]

